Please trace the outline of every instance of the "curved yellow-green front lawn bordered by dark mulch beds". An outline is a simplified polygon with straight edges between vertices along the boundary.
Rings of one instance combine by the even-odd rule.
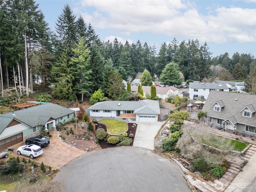
[[[124,121],[113,120],[113,119],[102,119],[98,122],[105,124],[108,128],[108,132],[113,135],[126,132],[128,128],[127,123]]]

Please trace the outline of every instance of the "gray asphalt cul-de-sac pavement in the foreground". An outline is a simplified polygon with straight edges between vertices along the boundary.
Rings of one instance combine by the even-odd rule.
[[[145,148],[122,146],[84,154],[54,177],[66,192],[189,192],[170,160]]]

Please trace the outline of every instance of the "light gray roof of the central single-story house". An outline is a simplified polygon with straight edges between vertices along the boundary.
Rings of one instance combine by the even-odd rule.
[[[134,111],[134,114],[160,114],[159,102],[150,99],[140,101],[102,101],[90,106],[88,110],[131,110]]]

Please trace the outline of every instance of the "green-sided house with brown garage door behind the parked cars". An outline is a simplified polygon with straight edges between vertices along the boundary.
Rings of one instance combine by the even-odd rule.
[[[47,103],[0,115],[0,148],[8,148],[26,140],[30,136],[39,135],[45,126],[51,130],[56,125],[71,121],[74,110]]]

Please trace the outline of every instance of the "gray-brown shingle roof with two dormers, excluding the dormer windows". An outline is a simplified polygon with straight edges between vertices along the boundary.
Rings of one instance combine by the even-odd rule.
[[[214,111],[212,104],[222,100],[223,106],[220,112]],[[248,108],[253,114],[251,118],[242,116],[242,109]],[[232,123],[256,126],[256,95],[234,92],[211,91],[202,108],[207,116],[222,120],[229,119]]]

